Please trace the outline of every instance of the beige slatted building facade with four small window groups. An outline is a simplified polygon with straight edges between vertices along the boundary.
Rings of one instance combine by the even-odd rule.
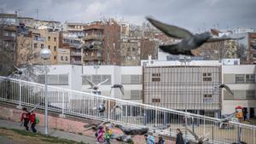
[[[211,116],[221,109],[221,66],[145,66],[143,103]]]

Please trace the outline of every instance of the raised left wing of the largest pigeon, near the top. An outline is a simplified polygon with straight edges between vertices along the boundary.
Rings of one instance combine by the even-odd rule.
[[[175,37],[179,39],[183,38],[189,38],[192,37],[193,34],[189,32],[188,30],[185,30],[183,28],[167,25],[165,23],[162,23],[158,20],[154,20],[152,18],[147,17],[146,18],[153,26],[158,28],[161,32],[164,32],[169,37]]]

